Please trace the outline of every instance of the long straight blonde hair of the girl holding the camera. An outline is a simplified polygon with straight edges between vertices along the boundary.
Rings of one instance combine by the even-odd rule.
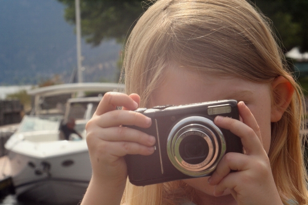
[[[159,0],[143,14],[128,38],[125,89],[128,94],[139,94],[141,106],[149,107],[150,95],[164,70],[174,64],[258,83],[271,83],[278,76],[289,79],[296,92],[281,120],[272,124],[268,157],[283,202],[287,197],[307,204],[303,136],[299,133],[303,95],[273,36],[267,19],[245,0]],[[179,197],[193,193],[180,181],[146,187],[128,182],[123,202],[176,204]]]

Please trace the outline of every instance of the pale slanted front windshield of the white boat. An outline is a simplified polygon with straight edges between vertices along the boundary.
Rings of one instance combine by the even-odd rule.
[[[59,130],[61,116],[25,116],[19,132]]]

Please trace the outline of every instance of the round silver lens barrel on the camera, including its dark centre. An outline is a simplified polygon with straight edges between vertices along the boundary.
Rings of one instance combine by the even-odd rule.
[[[201,116],[180,120],[167,138],[167,153],[172,165],[189,176],[212,173],[225,151],[221,130],[213,121]]]

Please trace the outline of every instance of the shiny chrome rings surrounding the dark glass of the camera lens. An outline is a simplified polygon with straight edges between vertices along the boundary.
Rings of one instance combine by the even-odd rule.
[[[209,147],[208,156],[200,163],[187,163],[180,155],[179,146],[189,134],[201,136]],[[207,176],[213,172],[226,150],[225,139],[213,121],[200,116],[180,120],[170,131],[167,138],[167,154],[180,172],[189,176]]]

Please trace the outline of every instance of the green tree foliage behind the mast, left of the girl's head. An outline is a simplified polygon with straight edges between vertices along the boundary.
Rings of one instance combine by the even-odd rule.
[[[75,24],[74,0],[58,0],[66,5],[65,19]],[[92,46],[115,38],[123,43],[136,19],[143,13],[140,0],[81,0],[82,36]]]

